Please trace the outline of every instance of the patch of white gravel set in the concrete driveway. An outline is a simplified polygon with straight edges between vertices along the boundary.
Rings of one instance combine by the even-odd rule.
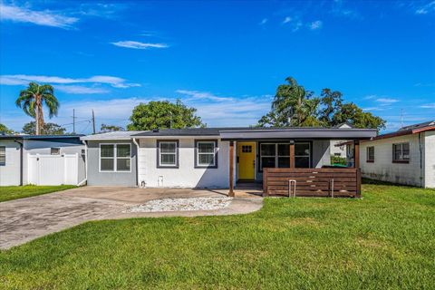
[[[227,208],[233,198],[162,198],[150,200],[123,212],[192,211]]]

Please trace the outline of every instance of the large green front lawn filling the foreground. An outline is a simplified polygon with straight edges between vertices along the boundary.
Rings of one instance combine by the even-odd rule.
[[[0,252],[3,289],[434,289],[435,190],[267,198],[244,216],[82,224]]]

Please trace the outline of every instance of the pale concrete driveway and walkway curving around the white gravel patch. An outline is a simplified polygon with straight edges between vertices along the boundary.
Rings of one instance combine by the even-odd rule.
[[[201,211],[123,213],[134,205],[158,198],[222,197],[227,190],[136,189],[83,187],[0,202],[0,248],[18,246],[83,222],[111,218],[196,217],[246,214],[263,206],[256,190],[236,191],[227,208]]]

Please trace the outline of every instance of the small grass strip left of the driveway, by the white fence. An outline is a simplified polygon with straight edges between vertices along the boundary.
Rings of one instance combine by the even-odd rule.
[[[18,198],[29,198],[39,196],[45,193],[61,191],[65,189],[74,189],[73,185],[60,186],[34,186],[26,185],[24,187],[0,187],[0,202]]]

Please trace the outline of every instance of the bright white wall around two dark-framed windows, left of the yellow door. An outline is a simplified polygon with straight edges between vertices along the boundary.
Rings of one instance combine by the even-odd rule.
[[[157,140],[179,140],[179,168],[157,168]],[[218,168],[195,168],[195,140],[198,138],[152,138],[140,139],[138,160],[139,184],[147,188],[199,188],[227,189],[229,184],[229,141],[218,139]],[[235,144],[236,151],[236,144]],[[236,160],[236,159],[235,159]],[[236,169],[236,167],[235,167]],[[235,170],[236,171],[236,170]],[[161,182],[162,179],[162,182]]]

